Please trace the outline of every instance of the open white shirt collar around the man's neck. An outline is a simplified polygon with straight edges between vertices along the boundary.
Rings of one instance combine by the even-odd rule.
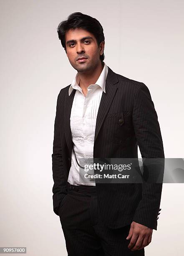
[[[103,92],[106,92],[105,87],[106,87],[106,78],[107,78],[107,73],[108,73],[108,67],[104,61],[103,61],[103,63],[104,63],[103,70],[95,84],[98,84],[102,88]],[[71,92],[73,91],[73,89],[80,90],[79,88],[81,88],[81,87],[78,85],[80,80],[78,78],[79,77],[78,77],[78,73],[77,73],[71,83],[71,86],[68,89],[69,96],[71,95]]]

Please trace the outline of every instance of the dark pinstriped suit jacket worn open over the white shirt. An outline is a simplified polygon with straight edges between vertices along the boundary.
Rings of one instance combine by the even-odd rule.
[[[70,84],[71,85],[71,84]],[[76,90],[67,87],[57,99],[53,141],[53,210],[56,215],[67,190],[71,167],[72,137],[70,115]],[[118,122],[124,119],[123,125]],[[94,138],[94,158],[163,158],[164,148],[154,103],[149,89],[116,74],[108,67],[106,93],[101,97]],[[109,228],[132,221],[157,230],[161,200],[160,184],[96,183],[99,218]]]

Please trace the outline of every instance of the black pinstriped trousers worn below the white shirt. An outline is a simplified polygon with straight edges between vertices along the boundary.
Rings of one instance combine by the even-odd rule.
[[[144,248],[139,251],[128,248],[130,240],[126,237],[130,225],[110,229],[98,220],[94,186],[68,183],[59,216],[68,256],[144,256]]]

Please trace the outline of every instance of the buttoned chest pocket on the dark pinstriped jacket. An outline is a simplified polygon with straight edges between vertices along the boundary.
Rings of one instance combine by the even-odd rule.
[[[109,113],[106,115],[106,130],[113,143],[128,143],[131,139],[131,111]]]

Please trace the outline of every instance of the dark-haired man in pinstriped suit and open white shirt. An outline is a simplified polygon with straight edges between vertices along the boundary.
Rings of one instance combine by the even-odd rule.
[[[85,184],[79,160],[136,159],[138,145],[142,158],[164,158],[149,89],[106,65],[95,18],[73,13],[59,24],[58,36],[78,72],[58,95],[52,154],[53,210],[68,255],[144,255],[157,227],[162,184]]]

